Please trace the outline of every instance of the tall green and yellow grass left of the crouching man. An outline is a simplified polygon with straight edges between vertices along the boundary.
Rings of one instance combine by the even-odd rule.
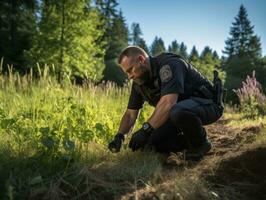
[[[125,184],[122,179],[147,179],[160,168],[156,156],[149,155],[131,160],[121,173],[117,169],[130,161],[127,151],[118,159],[106,148],[126,109],[130,85],[80,86],[68,78],[58,83],[53,68],[38,69],[37,76],[32,70],[20,76],[12,66],[0,73],[1,199],[116,195],[131,187],[119,186]],[[137,127],[147,112],[150,108]],[[103,160],[108,167],[100,167]]]

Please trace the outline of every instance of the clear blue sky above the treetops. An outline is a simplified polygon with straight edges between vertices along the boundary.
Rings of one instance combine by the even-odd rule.
[[[243,4],[255,34],[260,37],[262,54],[266,55],[266,0],[118,0],[118,3],[129,27],[133,22],[140,24],[149,46],[159,36],[166,47],[176,39],[187,45],[188,52],[193,45],[199,53],[208,45],[220,56]]]

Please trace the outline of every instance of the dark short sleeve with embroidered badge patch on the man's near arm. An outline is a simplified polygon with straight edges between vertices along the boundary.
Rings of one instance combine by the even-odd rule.
[[[161,67],[161,96],[184,93],[186,68],[186,63],[180,59],[168,61]]]

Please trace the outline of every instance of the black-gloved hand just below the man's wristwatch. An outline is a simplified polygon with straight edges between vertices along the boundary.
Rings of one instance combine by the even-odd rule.
[[[129,148],[132,149],[132,151],[136,151],[140,148],[144,148],[148,142],[149,137],[150,137],[150,133],[145,132],[141,128],[140,130],[133,133],[128,146]]]

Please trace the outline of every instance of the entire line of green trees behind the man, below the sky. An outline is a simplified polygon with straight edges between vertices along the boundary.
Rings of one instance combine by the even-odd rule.
[[[229,92],[238,88],[252,70],[266,87],[266,59],[242,5],[225,42],[223,57],[208,46],[200,53],[195,46],[188,52],[182,41],[174,40],[165,47],[160,37],[147,45],[138,23],[128,27],[117,0],[5,0],[0,2],[0,12],[4,72],[8,72],[7,64],[21,74],[30,69],[37,72],[38,63],[41,68],[48,65],[59,81],[68,77],[78,83],[113,81],[123,85],[126,76],[116,59],[132,44],[150,55],[164,51],[180,54],[210,79],[217,69]]]

